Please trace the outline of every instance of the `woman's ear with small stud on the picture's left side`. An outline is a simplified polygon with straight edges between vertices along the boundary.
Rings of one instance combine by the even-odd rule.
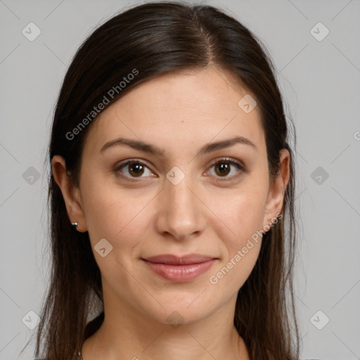
[[[79,232],[87,231],[84,211],[79,188],[74,186],[70,181],[69,172],[66,170],[66,164],[63,157],[54,155],[51,161],[53,169],[53,177],[58,184],[65,201],[66,211],[70,222],[77,222],[79,226],[76,228]]]

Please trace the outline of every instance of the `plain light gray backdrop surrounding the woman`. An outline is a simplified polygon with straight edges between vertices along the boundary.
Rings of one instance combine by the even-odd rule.
[[[0,359],[34,357],[34,343],[19,353],[49,274],[44,161],[60,84],[94,27],[134,4],[0,0]],[[360,359],[360,1],[207,4],[263,41],[297,129],[301,358]]]

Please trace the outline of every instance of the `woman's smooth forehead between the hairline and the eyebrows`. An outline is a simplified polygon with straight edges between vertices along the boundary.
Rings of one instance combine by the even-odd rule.
[[[127,137],[169,151],[244,136],[264,147],[257,106],[246,113],[239,101],[249,92],[229,72],[206,68],[170,72],[135,86],[98,115],[86,136],[87,150]],[[254,96],[252,96],[254,97]]]

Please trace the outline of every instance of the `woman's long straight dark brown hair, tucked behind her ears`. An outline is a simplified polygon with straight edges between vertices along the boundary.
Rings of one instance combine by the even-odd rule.
[[[51,164],[53,155],[63,156],[78,186],[85,136],[96,121],[94,106],[104,96],[113,103],[136,84],[158,75],[210,65],[228,70],[255,97],[271,179],[278,174],[279,151],[287,148],[290,152],[283,220],[263,237],[255,267],[238,292],[234,325],[251,359],[294,360],[299,356],[299,335],[293,295],[296,236],[291,122],[285,117],[269,54],[248,28],[219,8],[175,1],[141,4],[113,16],[89,35],[72,59],[56,103],[47,160]],[[128,77],[131,73],[134,76]],[[124,77],[129,80],[125,85],[120,84]],[[77,359],[84,340],[104,318],[101,273],[89,234],[71,226],[52,174],[49,205],[52,266],[36,356]]]

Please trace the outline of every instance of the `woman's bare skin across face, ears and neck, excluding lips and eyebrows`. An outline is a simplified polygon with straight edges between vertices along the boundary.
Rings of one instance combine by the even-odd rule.
[[[209,279],[281,212],[290,154],[281,150],[281,172],[271,183],[258,107],[245,113],[238,106],[245,94],[229,73],[211,66],[162,75],[136,86],[91,124],[79,188],[70,184],[63,158],[54,156],[53,176],[69,219],[79,222],[78,231],[89,231],[103,281],[105,320],[84,342],[83,360],[152,360],[159,354],[169,360],[250,359],[233,316],[261,238],[217,284]],[[127,146],[100,152],[120,136],[158,146],[165,155]],[[196,155],[206,143],[234,136],[250,139],[256,150],[237,143]],[[226,181],[238,167],[221,175],[219,164],[212,165],[226,157],[248,172]],[[128,159],[146,163],[140,177],[131,165],[115,170]],[[176,185],[166,177],[174,166],[185,174]],[[105,257],[94,250],[102,238],[113,246]],[[205,274],[182,283],[161,278],[141,260],[193,252],[218,259]],[[167,321],[174,311],[182,318],[176,328]]]

